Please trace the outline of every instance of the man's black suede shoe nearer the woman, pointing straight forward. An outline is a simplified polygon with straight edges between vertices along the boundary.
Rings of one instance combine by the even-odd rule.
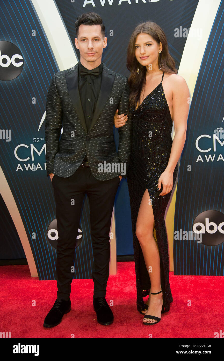
[[[100,325],[110,325],[113,323],[113,312],[105,297],[93,297],[93,309],[97,313],[97,321]]]

